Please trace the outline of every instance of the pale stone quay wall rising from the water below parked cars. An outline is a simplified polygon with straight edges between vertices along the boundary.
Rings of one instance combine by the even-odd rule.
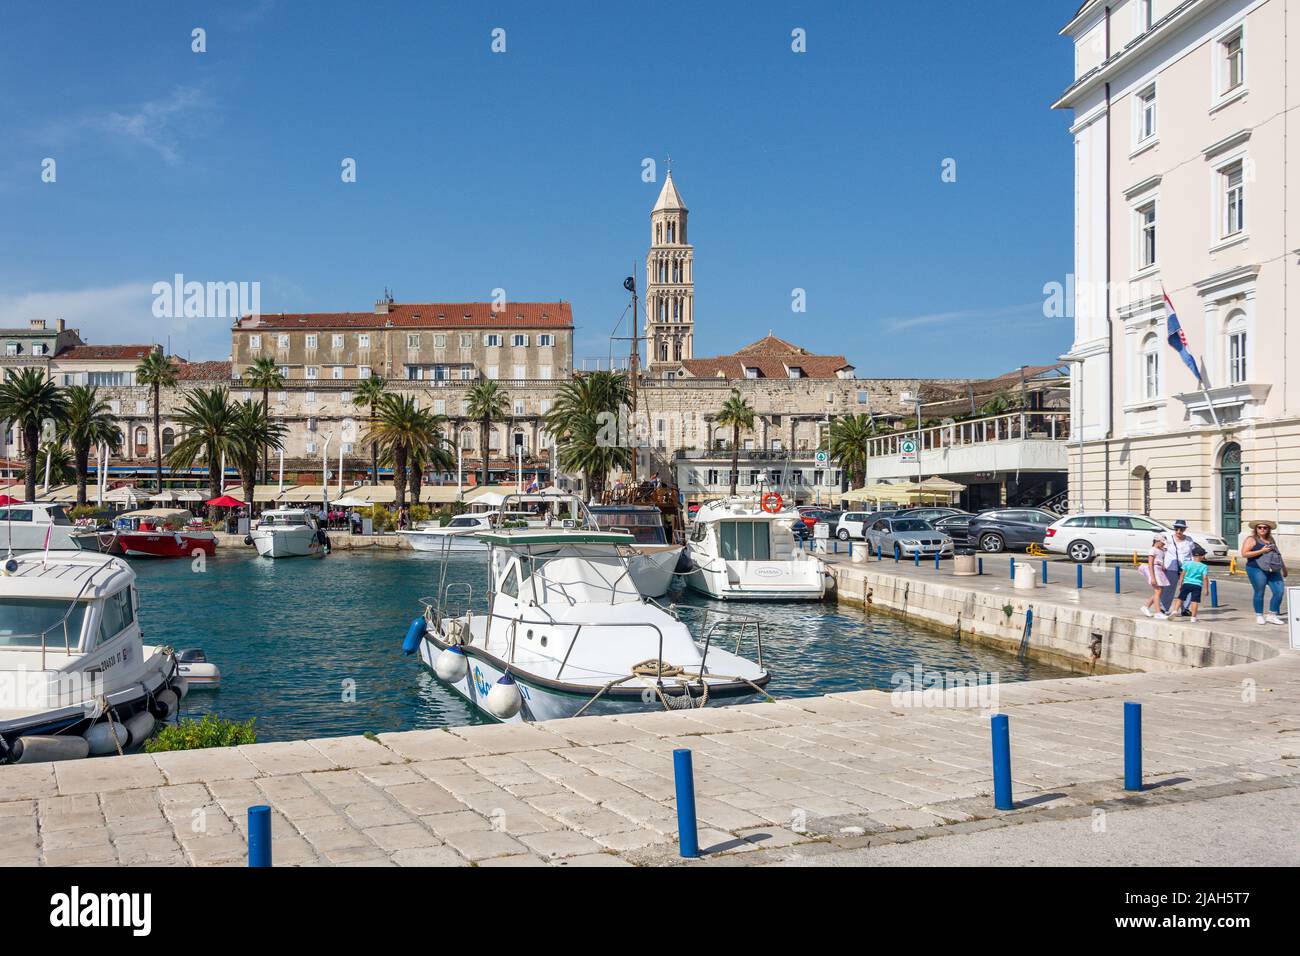
[[[1278,656],[1254,637],[1072,605],[1040,592],[984,591],[863,564],[827,567],[840,604],[897,614],[1010,653],[1023,646],[1026,657],[1082,674],[1223,667]]]

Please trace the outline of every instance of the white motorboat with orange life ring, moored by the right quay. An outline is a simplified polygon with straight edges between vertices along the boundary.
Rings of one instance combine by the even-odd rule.
[[[772,493],[706,502],[686,540],[688,587],[722,601],[820,601],[829,574],[794,546],[798,520]]]

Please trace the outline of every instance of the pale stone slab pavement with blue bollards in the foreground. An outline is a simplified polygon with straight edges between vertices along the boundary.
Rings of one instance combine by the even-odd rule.
[[[1180,805],[1294,800],[1300,782],[1290,652],[998,691],[1010,813],[992,806],[987,711],[863,691],[0,767],[0,861],[243,865],[246,809],[265,803],[277,865],[677,864],[679,747],[694,754],[703,865],[871,862],[881,849],[881,861],[935,862],[936,836],[974,847],[956,861],[996,862],[974,835],[996,848],[1030,827],[1087,827],[1098,809],[1119,827],[1135,806],[1178,821]],[[1122,790],[1124,700],[1144,705],[1141,795]],[[1121,858],[1089,845],[1091,862]],[[1225,861],[1213,844],[1196,858]]]

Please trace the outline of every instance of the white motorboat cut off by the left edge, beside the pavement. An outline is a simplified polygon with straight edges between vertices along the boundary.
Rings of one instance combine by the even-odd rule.
[[[0,763],[135,749],[187,691],[143,643],[135,572],[91,551],[0,566]]]

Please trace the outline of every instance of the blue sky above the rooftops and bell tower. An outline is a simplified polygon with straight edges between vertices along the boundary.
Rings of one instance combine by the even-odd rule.
[[[772,330],[861,376],[1052,360],[1075,7],[3,0],[0,323],[226,358],[229,323],[153,317],[153,282],[257,281],[264,312],[502,287],[571,300],[576,358],[606,356],[671,153],[697,355]]]

